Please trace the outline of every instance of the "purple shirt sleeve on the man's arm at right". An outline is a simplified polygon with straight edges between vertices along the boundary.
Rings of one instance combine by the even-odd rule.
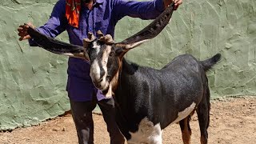
[[[154,19],[162,13],[164,4],[162,0],[137,2],[129,0],[114,0],[114,14],[118,19],[125,16],[142,19]]]

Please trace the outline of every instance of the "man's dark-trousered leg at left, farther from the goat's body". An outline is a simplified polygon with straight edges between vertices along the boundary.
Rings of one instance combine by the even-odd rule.
[[[78,134],[79,144],[94,143],[94,121],[92,118],[92,110],[94,110],[96,104],[96,101],[73,102],[70,100],[70,107]]]

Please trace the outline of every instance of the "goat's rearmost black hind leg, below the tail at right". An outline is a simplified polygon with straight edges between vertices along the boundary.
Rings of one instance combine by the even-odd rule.
[[[207,87],[202,98],[202,101],[198,105],[198,122],[201,131],[201,144],[206,144],[208,141],[207,129],[210,123],[210,90]]]

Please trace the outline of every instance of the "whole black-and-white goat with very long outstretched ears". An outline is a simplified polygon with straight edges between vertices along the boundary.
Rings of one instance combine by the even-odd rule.
[[[113,96],[116,121],[128,143],[162,143],[162,130],[179,122],[182,140],[190,143],[190,116],[196,110],[201,143],[207,143],[210,122],[210,90],[206,71],[217,63],[221,54],[198,61],[183,54],[161,70],[126,62],[124,55],[132,48],[157,36],[170,21],[173,5],[130,38],[114,43],[100,31],[98,38],[89,34],[84,46],[59,42],[29,28],[38,46],[55,54],[90,61],[90,78],[106,97]]]

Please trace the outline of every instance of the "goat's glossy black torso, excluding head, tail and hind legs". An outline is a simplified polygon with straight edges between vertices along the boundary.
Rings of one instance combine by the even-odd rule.
[[[206,72],[201,62],[191,55],[178,56],[161,70],[123,60],[115,91],[118,126],[128,142],[136,132],[142,131],[139,129],[145,119],[162,130],[194,112],[206,90]]]

